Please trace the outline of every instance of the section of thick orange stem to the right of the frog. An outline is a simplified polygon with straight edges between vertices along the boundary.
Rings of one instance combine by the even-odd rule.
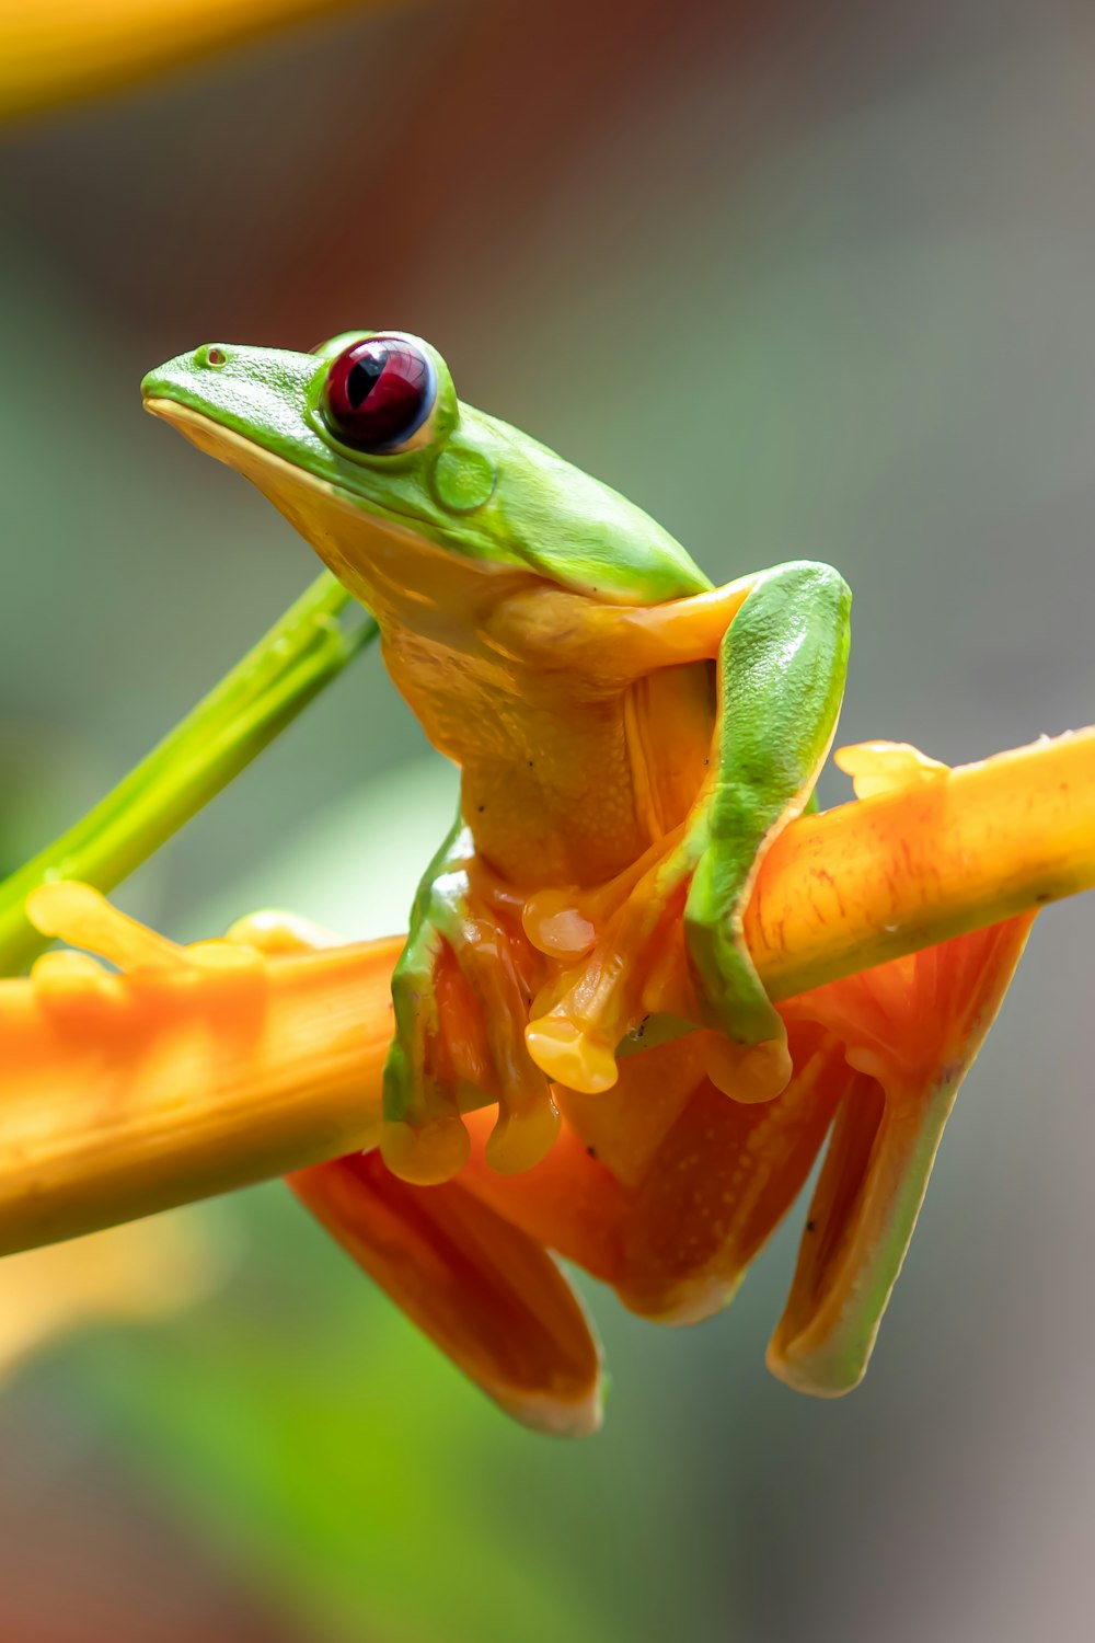
[[[773,999],[1095,887],[1095,726],[822,815],[772,846],[745,938]]]

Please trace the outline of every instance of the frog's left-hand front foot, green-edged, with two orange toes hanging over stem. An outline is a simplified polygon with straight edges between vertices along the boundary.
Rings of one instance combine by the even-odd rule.
[[[405,1181],[450,1180],[468,1158],[461,1112],[497,1101],[486,1147],[494,1170],[527,1170],[550,1150],[558,1114],[525,1048],[538,960],[519,904],[465,861],[424,889],[392,976],[396,1037],[384,1070],[384,1162]]]

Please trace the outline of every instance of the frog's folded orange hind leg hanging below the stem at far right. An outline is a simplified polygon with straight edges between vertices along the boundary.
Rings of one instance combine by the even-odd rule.
[[[992,1025],[1033,914],[796,999],[857,1068],[836,1121],[768,1367],[837,1397],[867,1369],[954,1098]]]

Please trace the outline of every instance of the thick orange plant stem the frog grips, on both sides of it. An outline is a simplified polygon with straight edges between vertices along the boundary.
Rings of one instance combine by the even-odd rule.
[[[796,822],[745,933],[786,999],[1093,886],[1095,728]],[[399,945],[0,981],[0,1254],[373,1145]]]

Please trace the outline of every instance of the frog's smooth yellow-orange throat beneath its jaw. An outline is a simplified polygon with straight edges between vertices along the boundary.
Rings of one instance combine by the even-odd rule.
[[[488,582],[497,593],[499,578],[530,578],[525,567],[466,559],[438,547],[415,529],[414,519],[345,496],[328,480],[177,399],[149,396],[144,409],[258,486],[381,624],[386,618],[405,621],[407,606],[420,600],[453,611],[476,605]]]

